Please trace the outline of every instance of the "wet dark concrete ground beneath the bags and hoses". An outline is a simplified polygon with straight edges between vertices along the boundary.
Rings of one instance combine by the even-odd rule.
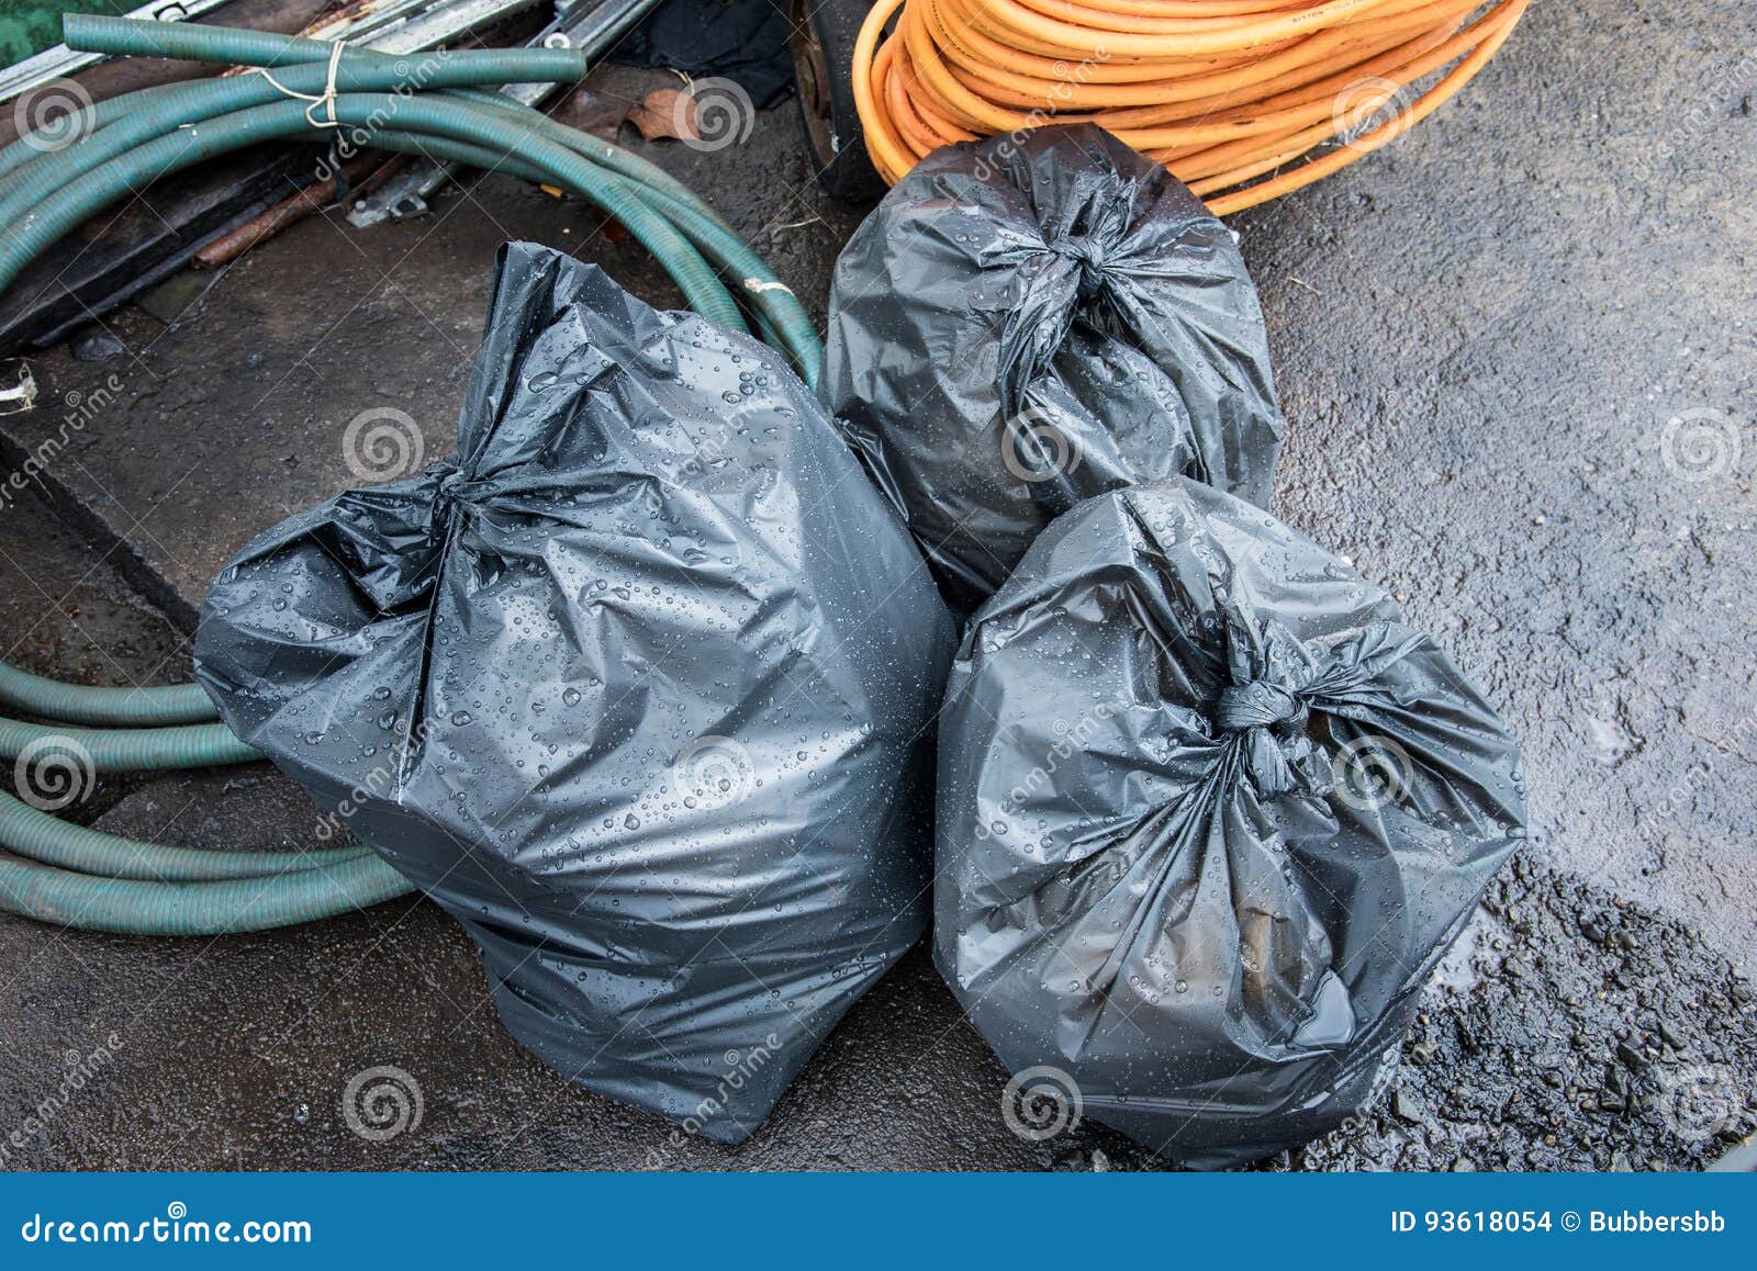
[[[1483,685],[1525,743],[1539,830],[1430,988],[1388,1099],[1276,1167],[1699,1167],[1753,1127],[1752,95],[1748,5],[1537,5],[1462,100],[1233,221],[1288,414],[1277,509]],[[859,211],[810,183],[791,107],[733,151],[645,149],[821,314]],[[172,327],[121,312],[112,362],[35,358],[46,406],[0,420],[0,444],[14,462],[67,446],[44,476],[56,513],[0,511],[5,657],[186,678],[206,579],[355,483],[350,420],[392,406],[429,456],[448,449],[503,237],[676,302],[578,205],[488,179],[425,221],[299,226]],[[315,843],[267,769],[104,781],[77,815]],[[1012,1136],[1005,1073],[919,950],[741,1148],[673,1141],[518,1050],[425,902],[223,941],[0,918],[0,1131],[69,1064],[91,1071],[23,1146],[0,1134],[5,1166],[1154,1164],[1089,1125]],[[422,1118],[374,1143],[341,1101],[385,1064]]]

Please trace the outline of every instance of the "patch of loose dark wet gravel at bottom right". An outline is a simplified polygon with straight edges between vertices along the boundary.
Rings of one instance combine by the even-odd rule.
[[[1522,858],[1490,887],[1356,1124],[1262,1169],[1703,1169],[1757,1131],[1745,969],[1683,923]],[[1091,1124],[1054,1169],[1154,1169]]]

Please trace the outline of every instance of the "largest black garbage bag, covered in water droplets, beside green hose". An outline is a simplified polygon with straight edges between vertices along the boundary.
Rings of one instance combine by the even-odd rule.
[[[951,616],[770,349],[501,253],[459,451],[230,562],[225,722],[562,1074],[736,1141],[926,927]]]

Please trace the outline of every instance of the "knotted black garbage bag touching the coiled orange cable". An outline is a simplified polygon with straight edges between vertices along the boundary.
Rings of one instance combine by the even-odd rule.
[[[836,262],[819,391],[961,609],[1089,495],[1267,507],[1281,448],[1232,232],[1095,125],[917,163]]]

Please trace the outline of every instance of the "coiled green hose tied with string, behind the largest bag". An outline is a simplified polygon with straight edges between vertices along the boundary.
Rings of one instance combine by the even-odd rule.
[[[79,51],[271,67],[267,74],[148,88],[91,107],[79,139],[0,151],[0,291],[42,251],[148,181],[265,140],[430,154],[559,186],[615,216],[705,318],[759,334],[815,383],[821,346],[805,309],[748,244],[652,163],[522,107],[485,84],[575,81],[571,49],[390,56],[265,32],[69,14]],[[334,90],[334,91],[330,91]],[[313,104],[309,98],[322,102]],[[330,114],[334,112],[334,114]],[[733,279],[727,288],[726,279]],[[239,764],[234,737],[197,685],[90,688],[0,662],[0,758],[67,751],[91,772]],[[74,727],[65,727],[74,725]],[[311,922],[413,890],[364,848],[206,851],[70,825],[0,793],[0,909],[135,936],[211,936]]]

